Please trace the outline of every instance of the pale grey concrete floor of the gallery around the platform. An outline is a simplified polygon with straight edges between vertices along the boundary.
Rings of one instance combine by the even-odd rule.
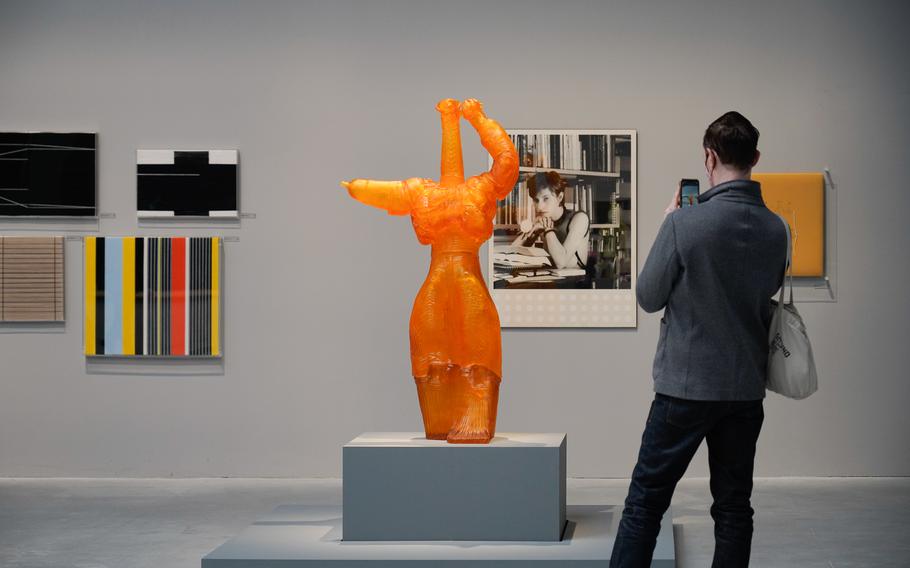
[[[574,479],[569,504],[620,503],[628,480]],[[198,567],[277,505],[340,505],[340,480],[0,479],[3,568]],[[681,568],[709,566],[706,480],[673,499]],[[752,566],[910,566],[910,478],[757,480]]]

